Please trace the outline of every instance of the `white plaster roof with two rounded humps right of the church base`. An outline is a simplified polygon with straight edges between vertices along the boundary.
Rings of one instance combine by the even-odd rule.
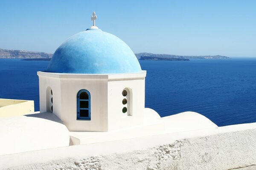
[[[217,125],[195,112],[183,112],[161,118],[156,111],[145,108],[143,117],[143,125],[140,126],[110,132],[70,132],[71,141],[73,144],[90,144],[166,133],[192,133],[192,130],[207,129],[208,133],[218,131]]]

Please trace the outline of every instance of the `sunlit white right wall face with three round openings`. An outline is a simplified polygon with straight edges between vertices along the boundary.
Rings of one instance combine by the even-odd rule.
[[[108,130],[143,125],[145,108],[145,72],[142,77],[117,79],[108,82]],[[128,95],[124,97],[122,91]],[[123,105],[122,100],[127,99],[128,104]],[[128,107],[123,113],[122,108]],[[132,115],[132,116],[130,116]]]

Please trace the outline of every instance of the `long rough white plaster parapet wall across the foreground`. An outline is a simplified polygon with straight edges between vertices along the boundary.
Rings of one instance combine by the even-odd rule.
[[[256,164],[256,123],[0,156],[0,169],[229,170]]]

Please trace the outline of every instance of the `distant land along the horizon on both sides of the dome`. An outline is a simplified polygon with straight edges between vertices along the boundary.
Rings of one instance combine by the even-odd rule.
[[[51,53],[23,51],[23,50],[6,50],[0,49],[0,58],[22,58],[26,60],[50,60]],[[140,60],[168,60],[168,61],[189,61],[189,59],[229,59],[226,56],[178,56],[171,54],[152,54],[152,53],[137,53],[137,59]]]

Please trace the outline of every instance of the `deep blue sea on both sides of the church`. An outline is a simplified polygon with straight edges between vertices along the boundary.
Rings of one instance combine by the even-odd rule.
[[[0,59],[0,98],[35,101],[37,71],[49,61]],[[140,61],[147,70],[145,107],[160,116],[203,114],[218,126],[256,122],[256,59]]]

